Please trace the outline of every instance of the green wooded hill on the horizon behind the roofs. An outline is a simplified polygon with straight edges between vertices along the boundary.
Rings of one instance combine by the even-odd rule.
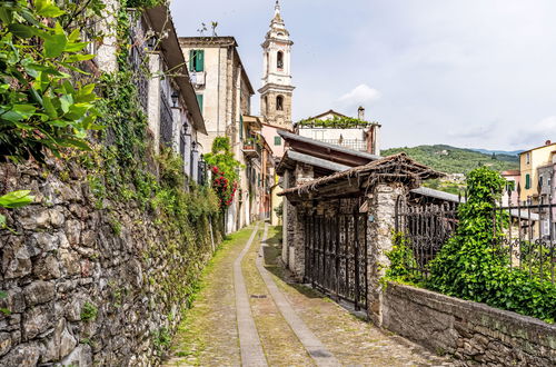
[[[383,150],[380,155],[386,157],[401,151],[418,162],[446,173],[467,173],[479,166],[488,166],[498,171],[519,168],[517,156],[485,155],[445,145],[391,148]]]

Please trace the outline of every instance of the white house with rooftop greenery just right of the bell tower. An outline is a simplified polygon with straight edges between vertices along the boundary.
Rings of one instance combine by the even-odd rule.
[[[363,107],[357,112],[357,118],[350,118],[329,110],[297,122],[295,131],[302,137],[379,156],[380,125],[366,121]]]

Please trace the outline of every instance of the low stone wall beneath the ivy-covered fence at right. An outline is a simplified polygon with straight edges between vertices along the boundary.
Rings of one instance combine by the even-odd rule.
[[[483,304],[389,284],[383,327],[466,366],[554,366],[556,326]]]

